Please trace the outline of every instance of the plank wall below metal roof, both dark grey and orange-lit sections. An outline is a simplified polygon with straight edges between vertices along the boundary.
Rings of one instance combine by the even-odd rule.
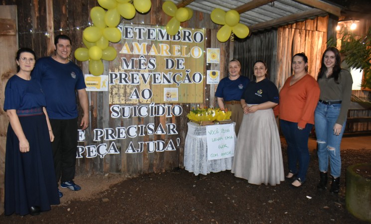
[[[316,17],[279,27],[263,33],[253,33],[244,40],[235,39],[234,56],[242,63],[243,75],[252,79],[256,60],[267,63],[269,78],[281,89],[291,76],[291,58],[304,52],[308,56],[309,73],[317,77],[322,53],[326,49],[328,17]]]

